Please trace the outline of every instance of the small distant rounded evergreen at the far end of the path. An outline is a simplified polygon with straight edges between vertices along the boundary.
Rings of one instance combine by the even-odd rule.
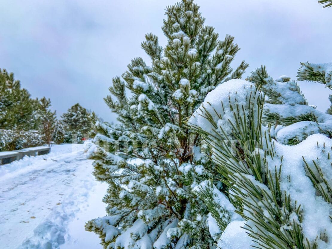
[[[79,103],[70,107],[66,113],[62,114],[61,122],[65,129],[65,143],[81,143],[92,129],[90,112]]]

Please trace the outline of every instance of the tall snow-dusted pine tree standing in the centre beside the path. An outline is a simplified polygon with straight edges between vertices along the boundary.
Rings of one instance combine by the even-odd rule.
[[[184,122],[209,91],[240,78],[248,65],[232,70],[238,45],[229,35],[218,40],[192,0],[167,7],[166,16],[167,45],[145,36],[141,46],[152,66],[134,58],[124,81],[113,79],[116,100],[105,101],[120,124],[96,124],[96,146],[89,149],[94,175],[109,184],[108,216],[87,222],[86,229],[104,248],[216,247],[207,210],[191,191],[216,172],[200,153],[200,137]]]

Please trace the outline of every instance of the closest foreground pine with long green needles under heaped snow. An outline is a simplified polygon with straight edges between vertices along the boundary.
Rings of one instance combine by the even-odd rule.
[[[314,134],[289,146],[273,139],[270,132],[275,134],[276,129],[263,121],[271,101],[278,100],[273,110],[280,116],[291,114],[292,106],[306,104],[289,77],[276,82],[267,77],[260,84],[257,73],[261,72],[250,77],[258,83],[233,80],[219,85],[189,119],[188,126],[211,146],[210,158],[227,189],[224,195],[205,181],[194,192],[213,218],[210,232],[222,233],[220,248],[331,248],[332,140]],[[305,115],[307,107],[296,114],[303,110]],[[289,126],[282,125],[279,132]]]

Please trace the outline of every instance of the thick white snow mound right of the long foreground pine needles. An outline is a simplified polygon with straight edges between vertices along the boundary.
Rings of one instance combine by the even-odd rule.
[[[308,163],[316,160],[325,177],[332,179],[332,159],[328,157],[328,153],[332,153],[332,139],[322,134],[314,134],[294,146],[275,144],[278,154],[283,155],[281,189],[290,194],[293,202],[301,204],[303,208],[301,224],[305,237],[309,241],[314,241],[317,235],[321,238],[326,236],[327,243],[321,244],[319,248],[331,248],[330,212],[332,205],[316,194],[316,190],[305,171],[302,157]],[[314,165],[311,166],[314,170]]]

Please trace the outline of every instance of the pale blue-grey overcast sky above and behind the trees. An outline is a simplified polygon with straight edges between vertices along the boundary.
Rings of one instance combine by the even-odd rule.
[[[79,102],[112,121],[103,101],[133,57],[147,59],[144,35],[158,35],[165,7],[176,0],[53,0],[0,2],[0,68],[15,73],[33,97],[46,96],[58,115]],[[295,80],[301,61],[332,61],[332,8],[317,0],[197,0],[220,39],[235,36],[250,71],[266,65],[276,78]],[[148,62],[148,61],[147,61]],[[300,82],[309,104],[325,111],[329,90]]]

